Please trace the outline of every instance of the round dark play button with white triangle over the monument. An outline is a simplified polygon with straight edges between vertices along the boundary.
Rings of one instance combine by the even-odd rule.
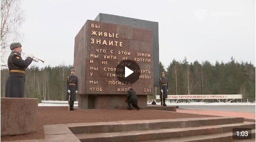
[[[130,59],[122,60],[116,66],[115,75],[119,81],[135,83],[140,75],[138,64]]]

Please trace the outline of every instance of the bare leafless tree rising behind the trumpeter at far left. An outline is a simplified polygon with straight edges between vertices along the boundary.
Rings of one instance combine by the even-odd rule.
[[[6,62],[6,47],[10,42],[21,40],[18,28],[25,19],[21,0],[1,0],[1,64]]]

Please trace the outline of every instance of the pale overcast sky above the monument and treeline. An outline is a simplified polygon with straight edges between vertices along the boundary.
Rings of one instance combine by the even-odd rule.
[[[154,2],[152,2],[154,1]],[[98,13],[159,23],[159,60],[251,61],[255,64],[255,0],[23,0],[20,31],[38,66],[73,64],[74,37]]]

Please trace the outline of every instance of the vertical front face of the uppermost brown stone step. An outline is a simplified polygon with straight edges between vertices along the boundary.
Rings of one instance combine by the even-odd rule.
[[[73,134],[117,132],[131,130],[151,130],[164,128],[181,128],[217,124],[244,122],[243,117],[202,117],[180,119],[123,120],[111,122],[69,123],[66,126]]]

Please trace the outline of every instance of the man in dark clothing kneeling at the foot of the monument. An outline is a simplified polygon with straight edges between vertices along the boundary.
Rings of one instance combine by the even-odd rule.
[[[131,110],[131,105],[133,107],[137,108],[137,110],[139,110],[139,107],[137,105],[137,101],[138,100],[137,100],[136,92],[131,87],[128,87],[128,93],[127,93],[128,110]]]

